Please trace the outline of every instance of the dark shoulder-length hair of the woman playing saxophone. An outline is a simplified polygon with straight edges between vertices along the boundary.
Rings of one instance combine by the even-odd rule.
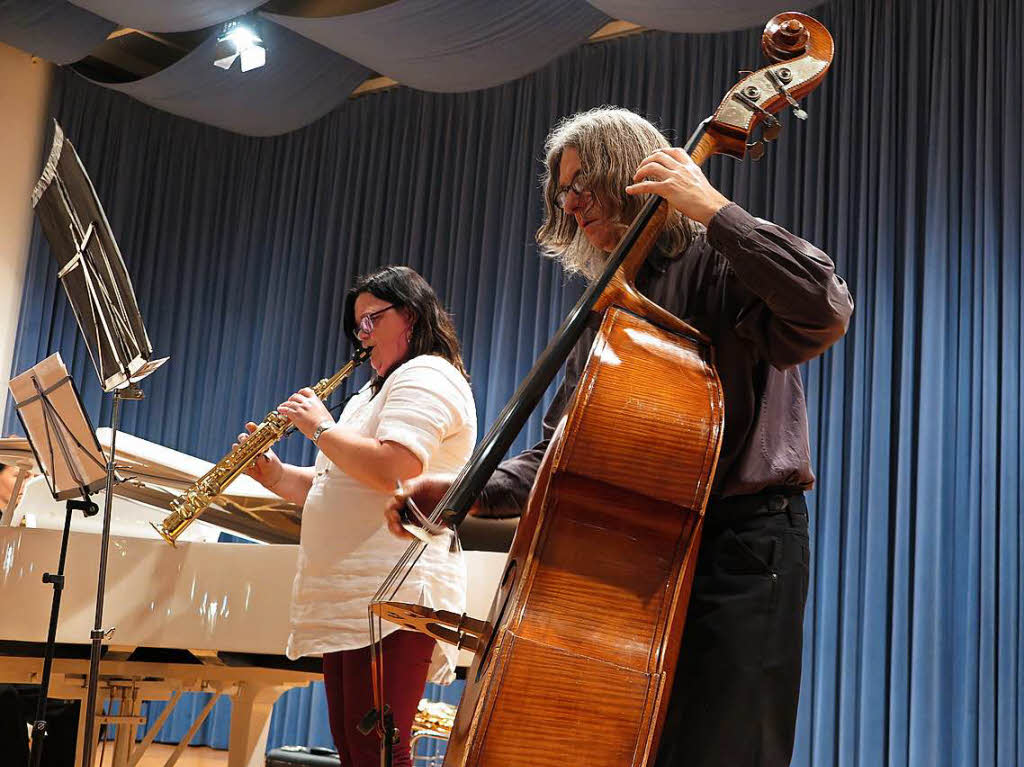
[[[355,299],[361,293],[371,293],[396,309],[406,309],[412,315],[413,332],[409,340],[409,353],[391,370],[420,354],[436,354],[452,363],[469,380],[452,317],[437,299],[434,289],[415,269],[408,266],[385,266],[355,282],[345,296],[345,334],[349,338],[355,338]],[[383,376],[374,378],[374,394],[380,391],[390,373],[391,371],[387,371]]]

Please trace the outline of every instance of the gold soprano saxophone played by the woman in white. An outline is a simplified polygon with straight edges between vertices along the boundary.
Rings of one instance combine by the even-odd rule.
[[[322,379],[313,386],[313,392],[321,399],[327,399],[341,382],[348,378],[359,365],[370,356],[370,349],[358,349],[352,358],[331,378]],[[178,536],[206,511],[207,507],[224,489],[233,482],[240,474],[252,466],[253,462],[262,456],[274,442],[281,439],[291,424],[278,411],[270,411],[266,418],[256,427],[238,448],[232,450],[212,469],[190,484],[184,493],[171,501],[173,512],[167,518],[153,527],[167,543],[174,546]]]

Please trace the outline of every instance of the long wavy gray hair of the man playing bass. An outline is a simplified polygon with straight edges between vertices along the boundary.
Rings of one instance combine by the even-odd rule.
[[[607,254],[595,248],[555,197],[558,194],[558,165],[566,146],[580,154],[584,185],[603,206],[609,218],[629,224],[643,207],[646,198],[626,194],[633,174],[643,159],[653,152],[671,146],[644,118],[618,106],[598,106],[567,117],[555,126],[544,143],[544,222],[537,230],[537,242],[546,256],[557,259],[569,273],[593,280],[601,273]],[[699,225],[669,212],[665,231],[657,243],[666,257],[678,255],[699,230]]]

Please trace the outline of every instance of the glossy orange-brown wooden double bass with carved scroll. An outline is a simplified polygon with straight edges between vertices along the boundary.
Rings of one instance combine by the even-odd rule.
[[[806,118],[798,101],[828,70],[831,36],[786,12],[768,23],[762,48],[771,63],[744,73],[690,137],[698,165],[759,157],[787,106]],[[724,408],[709,338],[634,287],[667,213],[660,198],[644,205],[431,515],[437,525],[465,518],[588,317],[602,314],[486,620],[389,601],[420,543],[370,606],[372,624],[475,653],[445,767],[640,767],[656,756]]]

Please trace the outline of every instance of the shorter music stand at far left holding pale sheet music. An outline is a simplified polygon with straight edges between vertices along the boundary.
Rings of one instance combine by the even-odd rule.
[[[59,354],[51,354],[12,378],[9,388],[18,420],[25,428],[36,464],[46,478],[50,494],[55,501],[67,502],[57,571],[43,573],[43,583],[53,587],[53,598],[50,602],[50,625],[43,653],[43,678],[36,701],[36,720],[32,725],[31,764],[32,767],[39,767],[46,739],[46,698],[56,647],[71,517],[75,510],[81,511],[85,516],[92,516],[97,512],[96,504],[89,496],[106,483],[106,462],[89,417],[82,410],[75,383],[68,375]]]

